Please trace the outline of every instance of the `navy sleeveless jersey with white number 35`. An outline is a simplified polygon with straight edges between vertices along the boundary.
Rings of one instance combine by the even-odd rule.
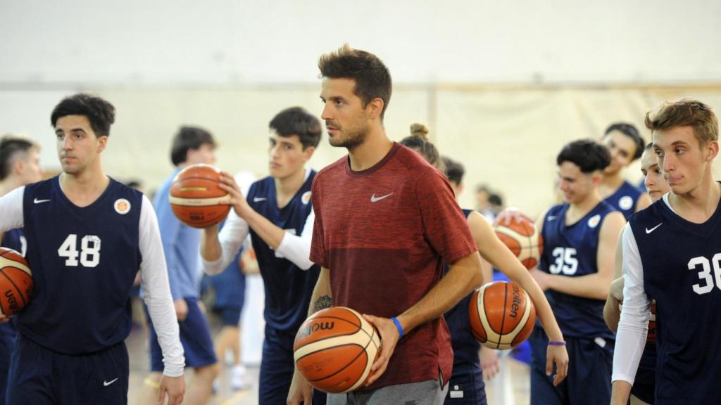
[[[596,273],[598,233],[603,219],[614,212],[614,208],[602,201],[579,221],[567,226],[565,217],[568,207],[568,204],[556,205],[544,218],[541,229],[543,254],[539,270],[566,277]],[[547,290],[546,297],[564,336],[615,339],[603,321],[606,301],[555,290]]]

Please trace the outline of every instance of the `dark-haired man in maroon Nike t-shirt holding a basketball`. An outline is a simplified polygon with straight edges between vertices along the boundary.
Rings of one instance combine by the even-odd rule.
[[[382,339],[368,384],[328,404],[442,404],[453,351],[441,315],[482,282],[475,241],[443,174],[386,136],[391,77],[379,58],[345,45],[319,68],[329,141],[348,156],[313,184],[322,270],[309,313],[348,306]],[[296,371],[288,404],[299,401],[310,389]]]

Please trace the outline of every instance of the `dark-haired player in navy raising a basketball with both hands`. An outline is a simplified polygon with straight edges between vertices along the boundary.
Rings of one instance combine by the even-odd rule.
[[[284,404],[295,362],[293,339],[306,319],[319,267],[310,259],[313,230],[311,184],[316,172],[306,169],[320,141],[319,120],[291,107],[270,121],[270,176],[252,184],[247,195],[227,173],[221,184],[231,194],[231,211],[223,230],[206,228],[201,253],[205,272],[223,270],[251,236],[265,284],[265,342],[260,363],[260,404]],[[253,333],[253,331],[249,331]],[[324,393],[313,396],[325,404]]]

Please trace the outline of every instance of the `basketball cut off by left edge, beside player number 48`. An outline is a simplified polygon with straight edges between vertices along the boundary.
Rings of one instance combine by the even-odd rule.
[[[25,257],[0,247],[0,311],[5,316],[22,311],[32,296],[32,286],[32,272]]]

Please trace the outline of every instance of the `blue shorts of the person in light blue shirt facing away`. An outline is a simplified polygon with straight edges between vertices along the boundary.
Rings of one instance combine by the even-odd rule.
[[[180,326],[180,343],[185,351],[185,365],[192,368],[200,368],[205,365],[215,364],[216,352],[213,350],[213,339],[211,339],[211,329],[205,315],[200,311],[198,306],[198,298],[185,298],[187,303],[187,316],[184,321],[178,321]],[[148,307],[145,307],[145,313],[150,319]],[[162,372],[163,352],[158,343],[158,334],[152,322],[148,322],[150,331],[150,370]]]

